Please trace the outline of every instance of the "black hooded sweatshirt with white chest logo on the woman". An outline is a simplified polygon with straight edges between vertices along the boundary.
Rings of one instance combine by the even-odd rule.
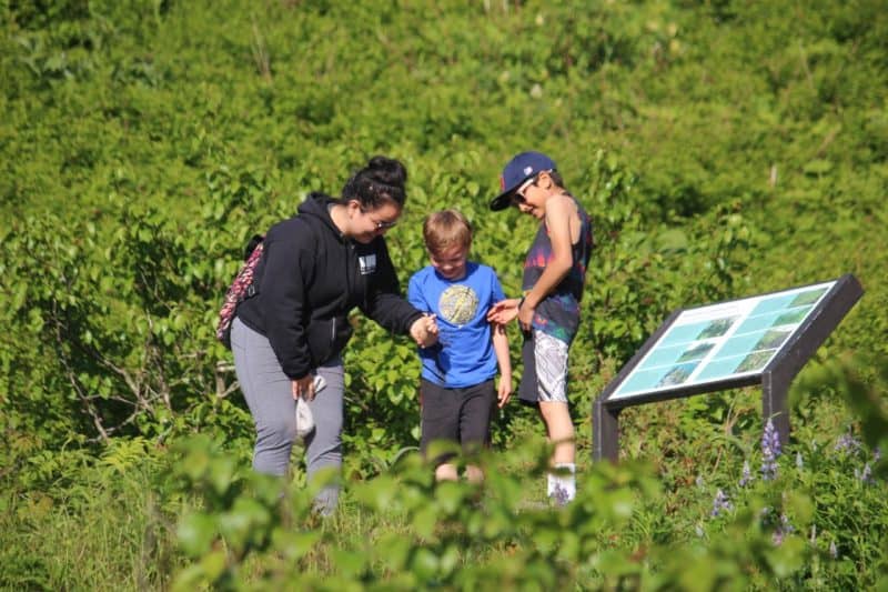
[[[385,240],[362,244],[330,218],[333,199],[312,193],[299,215],[265,234],[258,293],[238,318],[271,342],[284,374],[299,379],[335,357],[352,335],[355,307],[390,331],[407,333],[422,317],[400,295]]]

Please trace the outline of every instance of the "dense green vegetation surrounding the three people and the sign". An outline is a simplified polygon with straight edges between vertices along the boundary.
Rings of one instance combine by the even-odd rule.
[[[22,0],[0,27],[0,586],[888,585],[884,2]],[[483,491],[434,486],[413,347],[355,317],[319,521],[299,451],[292,483],[249,470],[213,339],[243,244],[384,153],[411,173],[402,281],[456,207],[515,293],[533,223],[486,202],[529,148],[597,228],[578,500],[539,504],[517,404]],[[589,461],[592,401],[670,311],[844,273],[866,294],[783,451],[745,389],[634,408],[623,461]]]

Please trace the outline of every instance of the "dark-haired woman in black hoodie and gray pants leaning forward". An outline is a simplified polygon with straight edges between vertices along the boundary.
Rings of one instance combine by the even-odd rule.
[[[273,225],[256,269],[258,293],[238,307],[231,344],[238,380],[256,425],[253,468],[283,475],[295,438],[295,401],[304,398],[315,430],[306,438],[311,479],[342,465],[343,367],[355,308],[417,344],[437,340],[434,319],[400,295],[383,235],[406,200],[407,173],[397,160],[374,157],[334,199],[312,193],[299,215]],[[326,387],[315,398],[313,379]],[[322,513],[339,488],[315,499]]]

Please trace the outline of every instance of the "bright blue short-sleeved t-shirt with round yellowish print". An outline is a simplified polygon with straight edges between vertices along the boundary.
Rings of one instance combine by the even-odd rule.
[[[487,311],[505,299],[496,273],[487,265],[466,262],[461,280],[442,278],[432,265],[413,274],[407,300],[437,315],[438,343],[421,348],[422,377],[447,389],[480,384],[496,375]]]

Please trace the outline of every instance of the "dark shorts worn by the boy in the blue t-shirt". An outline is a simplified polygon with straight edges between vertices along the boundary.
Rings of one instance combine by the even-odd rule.
[[[420,450],[425,454],[431,442],[460,442],[470,452],[491,441],[491,413],[496,403],[493,379],[463,389],[445,389],[434,382],[420,381],[422,394],[422,438]],[[441,464],[446,458],[435,459]]]

